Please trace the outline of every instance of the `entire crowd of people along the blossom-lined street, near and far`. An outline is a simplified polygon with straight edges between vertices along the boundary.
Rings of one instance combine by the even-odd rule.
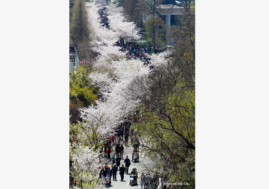
[[[109,28],[109,20],[106,15],[105,8],[99,10],[101,23],[103,27]],[[119,41],[115,43],[115,46],[121,47],[120,51],[126,53],[126,59],[127,60],[140,60],[144,63],[144,65],[149,64],[149,61],[151,60],[148,56],[149,49],[148,47],[142,47],[140,44],[137,44],[133,41],[126,42],[123,38],[120,38]],[[126,156],[126,158],[123,160],[123,153],[124,153],[124,146],[128,146],[129,137],[131,140],[131,144],[134,147],[133,153],[132,153],[132,161],[134,158],[134,154],[139,154],[139,140],[137,133],[134,131],[130,131],[129,128],[131,127],[131,122],[124,123],[125,128],[123,127],[123,124],[121,124],[117,129],[112,132],[111,135],[107,135],[106,141],[103,143],[103,148],[100,150],[100,158],[103,157],[103,152],[105,153],[105,156],[109,160],[111,160],[111,168],[107,165],[107,163],[104,165],[102,170],[100,171],[100,179],[102,184],[105,183],[105,178],[109,176],[111,183],[111,178],[113,177],[113,180],[117,179],[117,172],[119,171],[121,180],[123,181],[124,174],[129,174],[129,166],[131,165],[131,160]],[[124,135],[124,140],[123,140]],[[123,141],[123,144],[120,144],[120,141]],[[113,145],[115,146],[115,155],[110,156],[111,152],[113,151]],[[123,160],[123,163],[121,165],[121,161]],[[109,161],[110,162],[110,161]],[[121,166],[120,166],[121,165]],[[136,168],[132,169],[132,172],[130,175],[135,175],[135,179],[137,181],[138,178],[138,172]],[[159,177],[158,175],[151,176],[150,173],[144,175],[144,173],[140,176],[140,185],[141,188],[152,188],[155,189],[159,185]]]

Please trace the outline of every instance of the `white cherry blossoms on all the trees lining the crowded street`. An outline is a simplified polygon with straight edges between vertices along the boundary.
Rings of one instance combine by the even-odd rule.
[[[140,60],[126,60],[126,54],[120,51],[115,43],[123,37],[126,41],[141,40],[138,29],[133,22],[124,21],[122,8],[114,4],[108,6],[108,19],[111,29],[101,25],[98,14],[100,7],[94,3],[87,3],[89,22],[94,30],[93,50],[98,52],[97,62],[94,64],[94,72],[88,78],[92,84],[99,87],[102,98],[96,100],[97,105],[92,105],[82,111],[82,119],[87,121],[88,127],[94,128],[102,140],[124,118],[132,114],[139,104],[139,99],[129,99],[126,95],[129,86],[137,76],[150,74],[148,66]],[[152,56],[153,62],[161,64],[164,56]],[[99,162],[99,150],[88,146],[77,145],[72,150],[72,159],[85,180],[94,179],[94,173],[103,166]],[[83,172],[82,171],[82,172]],[[95,175],[96,176],[96,175]]]

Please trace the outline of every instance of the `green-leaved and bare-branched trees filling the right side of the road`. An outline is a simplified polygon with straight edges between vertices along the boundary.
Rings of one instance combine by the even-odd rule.
[[[132,128],[143,137],[141,153],[156,162],[144,168],[189,184],[173,189],[195,188],[195,5],[185,10],[172,28],[172,53],[160,55],[165,61],[154,65],[154,74],[137,77],[127,90],[146,104]]]

